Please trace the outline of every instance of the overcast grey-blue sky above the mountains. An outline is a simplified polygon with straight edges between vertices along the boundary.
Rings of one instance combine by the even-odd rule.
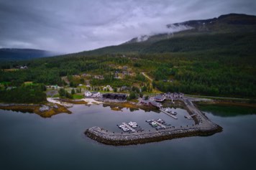
[[[255,9],[255,0],[0,0],[0,48],[80,52]]]

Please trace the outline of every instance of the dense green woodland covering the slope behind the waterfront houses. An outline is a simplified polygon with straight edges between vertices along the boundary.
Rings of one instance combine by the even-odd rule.
[[[18,87],[26,81],[63,86],[63,76],[90,73],[104,76],[103,80],[91,78],[91,85],[143,87],[148,82],[140,72],[146,72],[153,78],[153,87],[162,92],[256,98],[255,34],[176,37],[147,45],[140,51],[134,44],[125,44],[123,51],[129,46],[129,52],[122,52],[122,46],[114,54],[111,52],[114,47],[111,47],[109,52],[104,49],[105,55],[82,52],[22,62],[3,62],[0,82],[6,87]],[[29,68],[4,70],[16,65],[27,65]],[[120,71],[118,66],[124,65],[131,68],[135,75],[128,75],[124,79],[114,78],[114,72]]]

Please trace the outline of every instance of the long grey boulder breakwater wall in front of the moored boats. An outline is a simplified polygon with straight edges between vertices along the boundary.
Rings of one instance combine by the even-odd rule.
[[[209,126],[196,125],[183,128],[168,128],[160,131],[135,132],[135,133],[113,133],[99,127],[86,130],[86,136],[100,143],[125,146],[156,141],[164,141],[173,138],[184,138],[189,136],[211,136],[221,132],[222,128],[214,123]]]

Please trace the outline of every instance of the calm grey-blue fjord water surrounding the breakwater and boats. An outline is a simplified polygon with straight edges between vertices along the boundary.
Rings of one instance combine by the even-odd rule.
[[[87,138],[92,126],[120,131],[116,124],[162,118],[173,126],[191,125],[177,109],[178,121],[163,113],[123,112],[101,105],[75,105],[73,114],[41,118],[0,110],[0,169],[255,169],[256,115],[221,117],[205,112],[224,128],[206,137],[178,138],[137,146],[107,146]]]

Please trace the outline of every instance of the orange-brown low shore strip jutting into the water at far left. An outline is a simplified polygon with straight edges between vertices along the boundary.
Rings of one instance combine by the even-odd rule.
[[[37,115],[40,115],[42,118],[50,118],[52,115],[57,115],[59,113],[71,113],[70,110],[65,108],[63,105],[58,105],[58,107],[53,107],[53,105],[47,105],[50,107],[49,110],[40,111],[41,105],[0,105],[0,109],[4,110],[14,110],[14,111],[20,111],[24,113],[36,113]]]

